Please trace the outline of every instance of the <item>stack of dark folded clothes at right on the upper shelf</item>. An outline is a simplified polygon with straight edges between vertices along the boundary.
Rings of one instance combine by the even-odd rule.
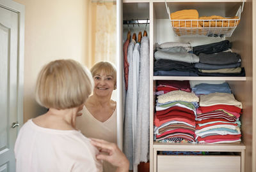
[[[193,52],[199,55],[195,64],[199,76],[245,76],[241,68],[241,56],[230,52],[228,40],[193,47]]]

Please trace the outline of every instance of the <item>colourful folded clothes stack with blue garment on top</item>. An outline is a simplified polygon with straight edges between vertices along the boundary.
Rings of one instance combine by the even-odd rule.
[[[200,95],[200,106],[196,109],[196,141],[240,143],[242,104],[231,94],[228,83],[200,83],[192,90]]]

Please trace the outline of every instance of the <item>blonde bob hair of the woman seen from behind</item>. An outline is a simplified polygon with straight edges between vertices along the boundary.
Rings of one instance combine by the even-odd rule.
[[[52,61],[38,75],[36,101],[46,108],[75,108],[86,101],[92,89],[92,75],[79,62]]]

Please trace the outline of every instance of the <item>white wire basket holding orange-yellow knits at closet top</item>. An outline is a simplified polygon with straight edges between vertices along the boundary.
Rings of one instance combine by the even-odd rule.
[[[214,18],[212,20],[172,20],[170,8],[165,1],[166,10],[169,15],[173,32],[176,36],[212,36],[230,37],[240,22],[243,5],[237,10],[235,17],[225,17],[225,19]],[[224,18],[224,17],[223,17]]]

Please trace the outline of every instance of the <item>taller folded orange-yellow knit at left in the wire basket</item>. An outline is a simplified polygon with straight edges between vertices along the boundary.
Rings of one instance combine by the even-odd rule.
[[[198,21],[199,15],[197,10],[180,10],[170,15],[171,20],[185,20],[185,21],[172,21],[173,27],[202,27]],[[188,19],[188,20],[187,20]]]

